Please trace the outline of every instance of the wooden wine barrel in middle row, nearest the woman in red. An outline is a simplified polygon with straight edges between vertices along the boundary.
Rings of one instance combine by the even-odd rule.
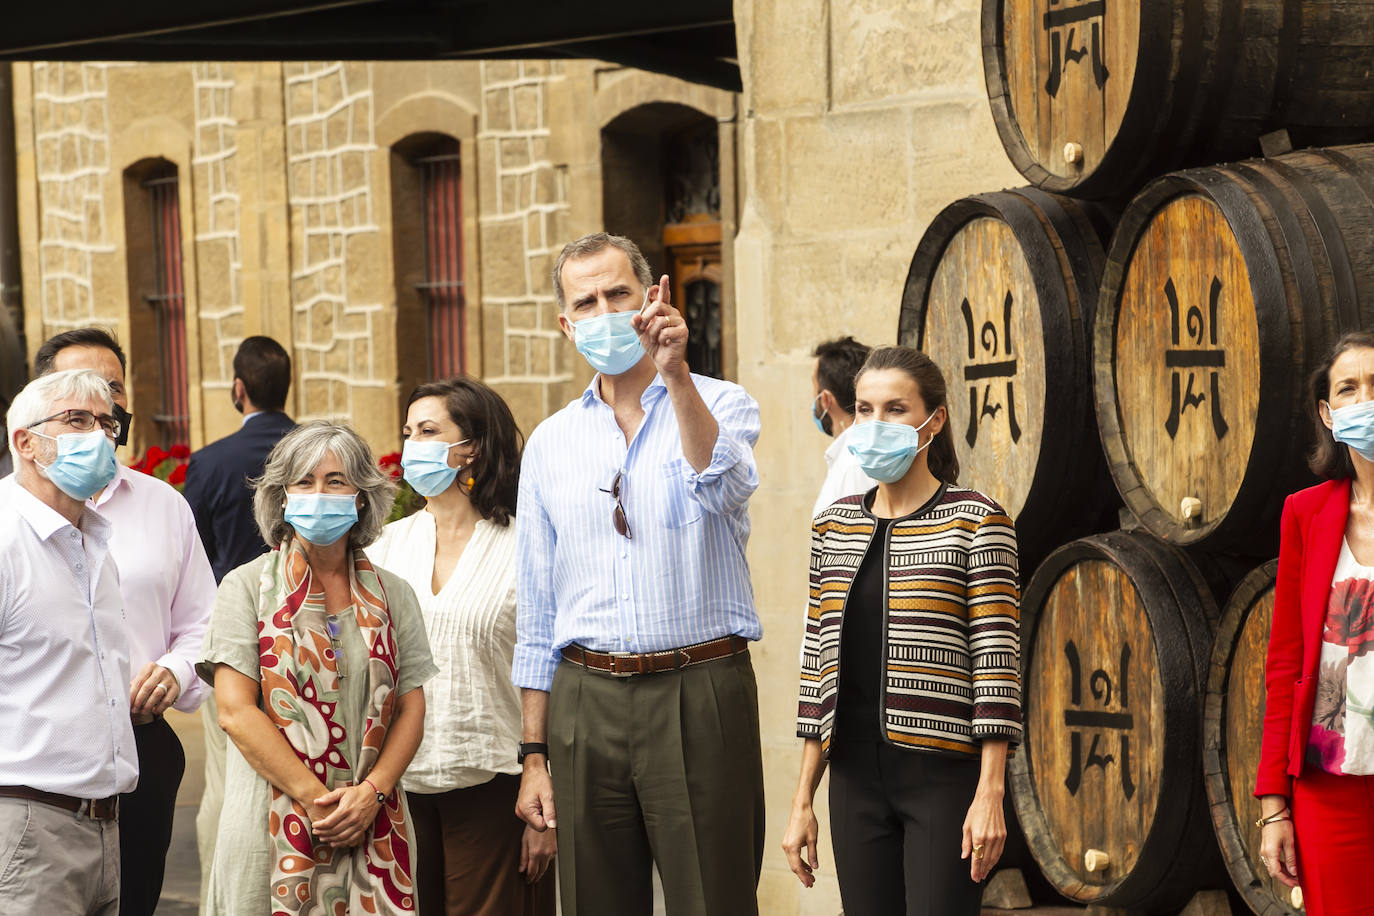
[[[1094,338],[1098,426],[1156,534],[1278,552],[1311,482],[1307,378],[1374,324],[1374,146],[1164,176],[1107,254]]]

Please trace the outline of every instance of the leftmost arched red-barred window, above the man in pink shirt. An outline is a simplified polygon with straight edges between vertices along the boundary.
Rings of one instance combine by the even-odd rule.
[[[131,387],[140,413],[151,412],[162,448],[190,442],[185,352],[185,277],[177,168],[143,159],[124,173],[129,258]],[[155,360],[154,357],[155,347]],[[155,365],[155,372],[147,368]],[[144,427],[147,428],[147,427]],[[147,442],[144,442],[147,445]]]

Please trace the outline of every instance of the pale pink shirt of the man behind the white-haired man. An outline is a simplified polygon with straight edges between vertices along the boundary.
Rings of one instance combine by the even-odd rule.
[[[114,526],[110,552],[120,567],[133,673],[157,662],[181,685],[173,707],[195,711],[207,689],[195,663],[214,608],[214,573],[191,507],[173,486],[122,464],[87,505]]]

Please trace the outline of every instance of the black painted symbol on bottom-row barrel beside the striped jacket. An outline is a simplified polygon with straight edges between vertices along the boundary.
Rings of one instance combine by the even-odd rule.
[[[1127,643],[1121,647],[1121,670],[1117,673],[1116,681],[1118,711],[1112,711],[1112,676],[1101,667],[1088,677],[1088,691],[1102,709],[1081,709],[1083,663],[1079,659],[1079,647],[1074,645],[1073,640],[1063,644],[1063,654],[1069,659],[1069,705],[1074,707],[1063,710],[1063,724],[1070,729],[1069,775],[1065,777],[1063,784],[1070,795],[1077,795],[1079,788],[1083,786],[1083,775],[1087,770],[1098,766],[1106,773],[1107,766],[1116,764],[1117,769],[1121,770],[1121,792],[1127,801],[1131,801],[1131,797],[1135,795],[1135,780],[1131,779],[1131,731],[1135,728],[1135,717],[1129,711],[1129,698],[1127,695],[1127,687],[1131,680],[1131,644]],[[1103,740],[1105,732],[1109,731],[1120,732],[1120,761],[1117,761],[1114,754],[1102,754],[1098,751],[1099,744],[1110,742],[1110,737]],[[1083,739],[1085,733],[1091,733],[1092,736],[1087,758],[1083,757]]]

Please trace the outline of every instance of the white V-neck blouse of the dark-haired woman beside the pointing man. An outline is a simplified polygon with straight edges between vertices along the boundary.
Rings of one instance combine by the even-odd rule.
[[[519,691],[515,654],[515,519],[480,520],[452,575],[431,588],[434,516],[392,522],[367,548],[378,566],[415,589],[438,674],[425,683],[425,739],[401,777],[407,792],[447,792],[518,773]]]

